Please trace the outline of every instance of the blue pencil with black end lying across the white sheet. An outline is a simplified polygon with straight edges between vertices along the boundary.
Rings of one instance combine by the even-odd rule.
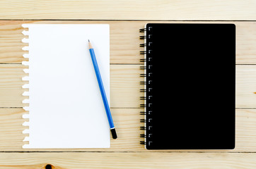
[[[103,97],[103,104],[105,106],[105,111],[107,113],[108,123],[110,124],[110,131],[111,131],[111,134],[112,134],[112,138],[116,139],[117,138],[117,133],[115,132],[115,126],[114,126],[114,123],[113,123],[113,120],[112,120],[112,115],[110,113],[110,106],[108,105],[108,102],[107,102],[107,96],[105,94],[103,81],[101,80],[100,70],[98,68],[98,63],[96,61],[93,46],[91,45],[90,40],[88,40],[88,42],[89,42],[89,51],[90,51],[90,54],[91,54],[91,60],[93,61],[93,67],[94,67],[95,74],[96,74],[98,84],[99,84],[99,87],[100,87],[100,93],[101,93],[101,96]]]

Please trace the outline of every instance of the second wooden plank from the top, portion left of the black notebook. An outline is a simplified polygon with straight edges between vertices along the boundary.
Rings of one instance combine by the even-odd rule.
[[[0,21],[0,63],[21,63],[27,61],[23,58],[22,50],[24,38],[22,23],[84,23],[110,24],[110,63],[139,63],[139,29],[144,23],[130,25],[129,22],[103,22],[103,21]]]

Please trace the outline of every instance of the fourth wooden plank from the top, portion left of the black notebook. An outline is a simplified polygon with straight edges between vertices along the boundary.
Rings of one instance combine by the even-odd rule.
[[[112,108],[112,118],[115,121],[118,139],[111,139],[111,149],[22,149],[26,129],[22,124],[25,120],[22,108],[0,108],[0,151],[139,151],[144,146],[139,144],[142,140],[139,130],[142,115],[139,108]]]

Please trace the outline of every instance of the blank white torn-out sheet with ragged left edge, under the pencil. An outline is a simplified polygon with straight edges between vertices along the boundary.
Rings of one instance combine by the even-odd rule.
[[[88,39],[93,44],[110,103],[109,25],[23,24],[28,31],[29,141],[23,148],[108,148],[110,127]]]

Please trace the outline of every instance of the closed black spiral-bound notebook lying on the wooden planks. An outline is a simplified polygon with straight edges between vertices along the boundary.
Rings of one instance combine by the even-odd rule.
[[[149,23],[140,32],[141,144],[234,149],[235,25]]]

